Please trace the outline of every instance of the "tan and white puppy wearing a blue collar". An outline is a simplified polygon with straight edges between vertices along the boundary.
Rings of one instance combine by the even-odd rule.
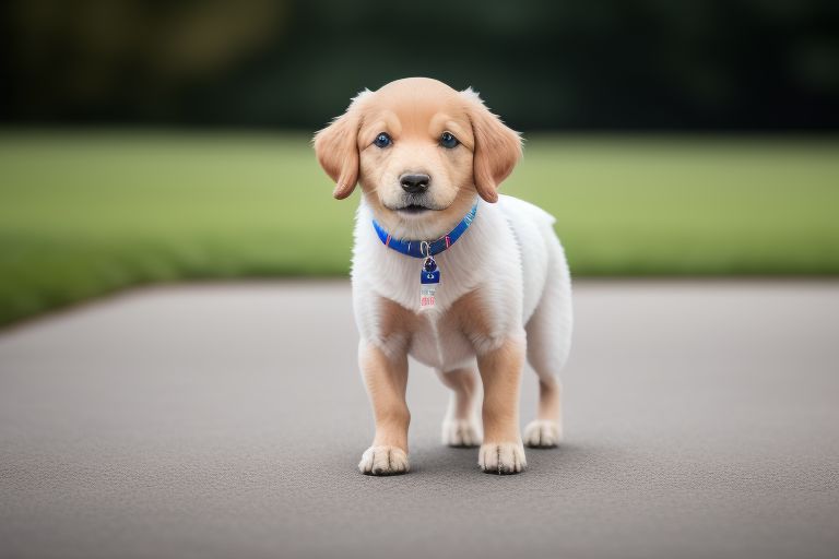
[[[484,472],[523,471],[525,359],[540,393],[523,442],[554,447],[562,437],[557,377],[570,349],[571,289],[553,217],[498,195],[521,157],[519,134],[471,88],[411,78],[359,93],[314,144],[336,199],[362,187],[353,305],[376,435],[359,469],[409,471],[410,355],[451,389],[444,443],[481,444]]]

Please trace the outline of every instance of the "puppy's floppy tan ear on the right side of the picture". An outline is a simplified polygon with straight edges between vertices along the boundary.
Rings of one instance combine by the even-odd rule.
[[[498,185],[521,158],[521,136],[489,112],[472,87],[460,92],[466,102],[475,138],[473,173],[477,193],[487,202],[498,201]]]

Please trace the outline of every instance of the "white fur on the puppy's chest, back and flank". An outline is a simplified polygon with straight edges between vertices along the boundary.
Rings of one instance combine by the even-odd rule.
[[[565,253],[553,230],[554,218],[507,195],[496,204],[476,200],[472,225],[435,257],[441,275],[436,306],[420,311],[422,261],[385,247],[363,199],[356,214],[352,270],[362,341],[391,354],[406,349],[416,360],[445,372],[474,367],[476,355],[527,332],[531,365],[540,377],[556,377],[570,349],[571,285]],[[491,294],[485,306],[494,330],[470,340],[452,321],[446,321],[446,312],[478,287]],[[426,320],[413,338],[382,337],[375,295],[422,313]]]

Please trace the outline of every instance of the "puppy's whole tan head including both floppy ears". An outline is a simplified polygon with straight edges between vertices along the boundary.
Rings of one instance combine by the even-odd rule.
[[[498,200],[521,139],[472,90],[410,78],[358,94],[315,135],[315,151],[336,182],[335,198],[361,183],[392,235],[433,239],[463,217],[476,193]]]

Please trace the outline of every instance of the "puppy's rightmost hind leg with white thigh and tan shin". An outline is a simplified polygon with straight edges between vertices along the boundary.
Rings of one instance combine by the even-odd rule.
[[[558,255],[540,305],[525,326],[528,362],[539,376],[536,418],[524,428],[528,447],[556,447],[563,437],[559,371],[571,345],[571,286],[565,259],[562,252]]]

